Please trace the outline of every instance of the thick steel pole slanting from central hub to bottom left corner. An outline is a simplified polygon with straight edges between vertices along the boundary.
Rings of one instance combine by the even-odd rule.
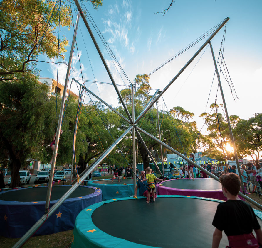
[[[85,174],[83,174],[83,176],[81,176],[80,180],[83,181],[91,172],[93,169],[95,169],[95,167],[100,164],[103,159],[105,159],[105,157],[117,146],[117,144],[125,137],[125,135],[127,135],[127,133],[130,132],[130,130],[132,129],[132,126],[130,126],[129,128],[127,128],[127,130],[112,144],[110,145],[110,147],[108,147],[108,149],[105,150],[105,152],[103,152],[102,155],[100,155],[100,157],[98,157],[95,162],[93,163],[92,167],[88,168],[87,172]],[[78,187],[78,184],[75,183],[72,187],[70,187],[70,189],[53,205],[53,207],[50,208],[48,215],[43,215],[34,225],[33,227],[31,227],[26,234],[23,235],[23,237],[21,237],[21,239],[19,239],[19,241],[13,246],[13,248],[16,247],[22,247],[23,244],[25,244],[25,242],[36,232],[36,230],[38,230],[38,228],[54,213],[54,211],[68,198],[68,196],[70,196],[71,193],[73,193],[73,191]]]

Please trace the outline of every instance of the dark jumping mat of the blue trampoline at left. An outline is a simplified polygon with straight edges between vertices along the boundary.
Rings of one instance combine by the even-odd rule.
[[[69,190],[71,186],[53,186],[51,193],[51,201],[58,200]],[[6,191],[0,194],[0,200],[3,201],[46,201],[46,193],[48,187],[32,187],[26,189],[18,189],[14,191]],[[80,196],[86,196],[94,193],[93,188],[77,187],[68,198],[75,198]]]

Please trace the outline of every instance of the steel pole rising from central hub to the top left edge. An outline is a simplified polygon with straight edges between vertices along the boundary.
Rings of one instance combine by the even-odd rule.
[[[94,43],[94,45],[95,45],[95,48],[96,48],[96,50],[98,51],[98,54],[99,54],[99,56],[100,56],[100,58],[101,58],[101,60],[102,60],[102,62],[103,62],[103,64],[104,64],[104,66],[105,66],[105,69],[106,69],[106,71],[107,71],[107,73],[108,73],[108,76],[110,77],[110,79],[111,79],[111,81],[112,81],[112,84],[113,84],[113,86],[114,86],[114,88],[115,88],[115,91],[116,91],[116,93],[117,93],[117,95],[118,95],[118,97],[119,97],[119,99],[120,99],[120,101],[121,101],[121,103],[122,103],[122,105],[123,105],[123,107],[124,107],[124,109],[125,109],[125,112],[127,113],[127,116],[128,116],[128,118],[129,118],[129,120],[131,121],[131,120],[132,120],[132,117],[131,117],[130,113],[128,112],[128,109],[127,109],[127,107],[126,107],[126,105],[125,105],[124,99],[122,98],[122,96],[121,96],[121,94],[120,94],[120,91],[119,91],[118,88],[117,88],[117,85],[116,85],[116,83],[115,83],[115,80],[114,80],[114,78],[113,78],[113,76],[112,76],[112,74],[111,74],[111,72],[110,72],[110,70],[109,70],[109,68],[108,68],[107,63],[105,62],[105,58],[104,58],[104,56],[103,56],[103,54],[102,54],[102,52],[101,52],[101,50],[100,50],[100,48],[99,48],[96,40],[95,40],[95,37],[94,37],[94,35],[93,35],[93,33],[92,33],[92,30],[91,30],[91,28],[90,28],[90,26],[89,26],[89,24],[88,24],[88,22],[87,22],[87,20],[86,20],[86,18],[85,18],[85,12],[82,10],[82,8],[81,8],[78,0],[74,0],[74,1],[75,1],[76,7],[77,7],[78,10],[80,11],[81,17],[82,17],[82,19],[83,19],[83,21],[84,21],[84,23],[85,23],[85,26],[86,26],[89,34],[90,34],[90,37],[91,37],[91,39],[93,40],[93,43]]]

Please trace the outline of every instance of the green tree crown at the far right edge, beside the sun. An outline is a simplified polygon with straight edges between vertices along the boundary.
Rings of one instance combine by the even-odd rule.
[[[262,151],[262,114],[255,114],[248,120],[239,120],[234,128],[237,150],[242,156],[249,155],[258,162]]]

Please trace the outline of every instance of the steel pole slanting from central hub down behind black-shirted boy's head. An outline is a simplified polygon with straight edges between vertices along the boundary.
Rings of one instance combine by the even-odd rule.
[[[167,149],[169,149],[170,151],[174,152],[175,154],[177,154],[179,157],[184,157],[183,154],[181,154],[180,152],[176,151],[175,149],[173,149],[172,147],[170,147],[169,145],[165,144],[164,142],[160,141],[159,139],[157,139],[156,137],[154,137],[153,135],[151,135],[150,133],[147,133],[145,130],[143,130],[142,128],[139,128],[136,126],[136,128],[138,130],[140,130],[142,133],[146,134],[147,136],[149,136],[150,138],[152,138],[153,140],[157,141],[158,143],[162,144],[164,147],[167,147]],[[200,165],[196,164],[195,162],[193,162],[192,160],[190,160],[187,157],[184,157],[184,159],[189,162],[190,164],[196,166],[197,168],[199,168],[201,171],[204,171],[207,175],[211,176],[212,178],[216,179],[216,181],[219,181],[219,178],[217,176],[215,176],[214,174],[212,174],[211,172],[207,171],[206,169],[202,168]],[[220,181],[219,181],[220,182]],[[243,198],[245,198],[247,201],[249,201],[250,203],[254,204],[255,206],[257,206],[258,208],[262,209],[262,205],[260,205],[259,203],[257,203],[256,201],[252,200],[251,198],[249,198],[248,196],[242,194],[241,192],[239,192],[239,195],[242,196]]]

